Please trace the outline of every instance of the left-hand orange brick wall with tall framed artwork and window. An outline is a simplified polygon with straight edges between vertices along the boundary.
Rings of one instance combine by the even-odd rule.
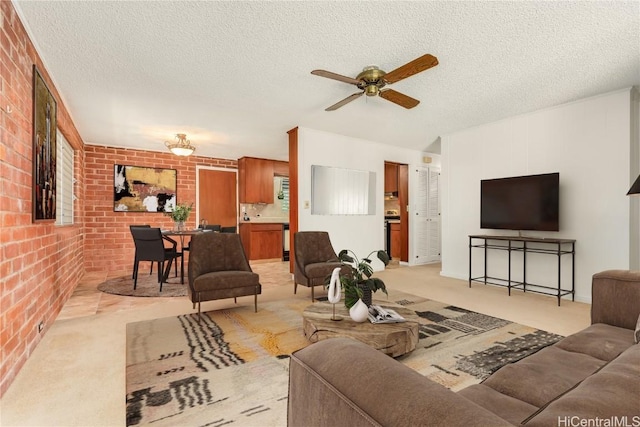
[[[76,224],[32,223],[33,64],[58,104],[58,128],[76,150],[83,142],[10,1],[0,2],[0,397],[55,320],[83,274],[82,186]],[[38,324],[44,330],[38,332]]]

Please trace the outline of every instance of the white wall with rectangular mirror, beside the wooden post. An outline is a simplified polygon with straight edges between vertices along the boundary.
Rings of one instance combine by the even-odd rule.
[[[424,165],[425,153],[402,149],[363,139],[298,128],[298,179],[300,231],[328,231],[336,252],[353,250],[358,257],[368,255],[373,250],[384,249],[384,162],[392,161],[408,165]],[[438,155],[431,165],[438,165]],[[376,213],[375,215],[311,215],[305,202],[311,202],[311,165],[333,166],[358,169],[376,173]],[[413,183],[409,181],[411,199]],[[411,234],[411,224],[409,229]],[[411,241],[411,238],[410,238]],[[413,248],[409,246],[411,259]],[[374,263],[374,269],[382,268],[382,263]]]

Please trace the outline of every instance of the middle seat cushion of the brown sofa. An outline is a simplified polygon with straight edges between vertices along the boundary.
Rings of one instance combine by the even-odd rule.
[[[604,361],[557,345],[503,366],[483,384],[538,408],[597,371]]]

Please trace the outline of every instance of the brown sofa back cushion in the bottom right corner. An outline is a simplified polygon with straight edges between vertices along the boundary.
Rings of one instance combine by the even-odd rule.
[[[630,347],[525,424],[532,427],[559,425],[559,420],[570,420],[571,417],[577,417],[574,420],[614,417],[622,420],[626,417],[626,422],[616,425],[640,423],[640,346]],[[564,425],[583,424],[565,422]]]

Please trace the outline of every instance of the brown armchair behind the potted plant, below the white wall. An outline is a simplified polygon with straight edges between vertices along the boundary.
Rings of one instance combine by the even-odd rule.
[[[325,277],[331,275],[336,267],[343,267],[342,274],[348,274],[349,266],[344,266],[333,250],[329,233],[326,231],[298,231],[293,235],[295,263],[293,268],[293,293],[298,285],[311,288],[311,301],[314,300],[313,287],[324,285]]]

